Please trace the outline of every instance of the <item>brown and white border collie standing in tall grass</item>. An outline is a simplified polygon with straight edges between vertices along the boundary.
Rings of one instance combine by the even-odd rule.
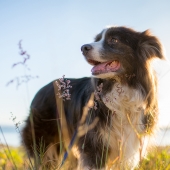
[[[68,79],[71,100],[62,102],[65,128],[73,139],[91,94],[95,96],[94,106],[89,108],[84,124],[88,127],[96,118],[98,121],[74,143],[78,154],[71,162],[77,162],[72,169],[133,169],[146,155],[157,123],[157,77],[151,61],[164,59],[161,43],[148,30],[111,26],[97,34],[93,43],[83,45],[81,51],[93,66],[93,76]],[[60,140],[57,107],[51,82],[35,95],[22,131],[29,155],[35,157],[34,144],[40,150],[43,143],[43,161],[55,162],[56,166],[64,142]]]

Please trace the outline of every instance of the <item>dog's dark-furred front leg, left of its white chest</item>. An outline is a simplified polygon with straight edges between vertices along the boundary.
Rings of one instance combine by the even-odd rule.
[[[108,148],[104,146],[97,135],[86,136],[85,142],[79,141],[79,153],[77,170],[105,170],[108,158]],[[83,146],[83,147],[82,147]]]

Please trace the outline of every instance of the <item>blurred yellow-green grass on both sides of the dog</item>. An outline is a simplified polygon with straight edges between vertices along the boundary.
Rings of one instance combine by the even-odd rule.
[[[0,170],[33,170],[32,167],[22,147],[0,145]],[[170,170],[170,146],[153,148],[135,170]]]

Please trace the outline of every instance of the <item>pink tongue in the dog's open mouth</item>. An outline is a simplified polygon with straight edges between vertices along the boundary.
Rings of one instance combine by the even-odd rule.
[[[111,71],[116,71],[120,68],[118,61],[105,62],[94,66],[91,70],[92,74],[101,74]]]

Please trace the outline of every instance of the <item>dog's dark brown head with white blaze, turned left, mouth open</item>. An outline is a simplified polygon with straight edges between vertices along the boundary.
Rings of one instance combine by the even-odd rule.
[[[92,75],[104,79],[137,75],[151,59],[164,58],[159,40],[148,30],[136,32],[126,27],[104,29],[81,50],[93,65]]]

